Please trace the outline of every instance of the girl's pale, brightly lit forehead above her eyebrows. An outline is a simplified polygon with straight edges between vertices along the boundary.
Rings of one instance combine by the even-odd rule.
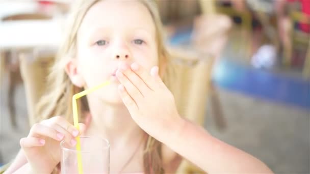
[[[99,1],[86,13],[80,31],[91,32],[98,28],[110,31],[130,31],[135,28],[154,35],[155,26],[148,9],[138,1]]]

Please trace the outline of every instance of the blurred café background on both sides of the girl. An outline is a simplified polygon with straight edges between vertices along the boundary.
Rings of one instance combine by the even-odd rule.
[[[0,166],[28,135],[72,2],[0,1]],[[310,173],[310,1],[157,3],[179,112],[276,173]]]

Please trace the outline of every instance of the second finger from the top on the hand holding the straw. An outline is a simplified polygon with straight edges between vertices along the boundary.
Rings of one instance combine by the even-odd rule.
[[[28,137],[37,137],[40,138],[42,136],[46,136],[49,138],[53,138],[57,141],[62,140],[61,137],[59,137],[59,132],[57,132],[55,129],[49,128],[47,126],[41,125],[41,124],[34,124],[30,130],[30,134]]]

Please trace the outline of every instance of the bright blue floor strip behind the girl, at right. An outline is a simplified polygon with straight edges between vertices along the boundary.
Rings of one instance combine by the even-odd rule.
[[[190,37],[189,28],[177,32],[169,42],[171,45],[182,45],[189,43]],[[310,81],[302,78],[275,74],[222,60],[214,69],[213,81],[227,90],[310,110]]]

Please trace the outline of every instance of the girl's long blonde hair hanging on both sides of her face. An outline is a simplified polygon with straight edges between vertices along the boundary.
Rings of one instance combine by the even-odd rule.
[[[65,72],[65,64],[69,59],[74,57],[76,53],[76,35],[81,22],[87,11],[97,2],[102,0],[88,0],[79,1],[71,9],[71,16],[69,16],[64,40],[60,46],[60,50],[56,56],[55,64],[51,68],[51,73],[47,79],[49,90],[44,95],[37,105],[36,113],[37,122],[54,117],[55,115],[64,115],[65,118],[72,123],[72,103],[71,98],[73,94],[82,91],[77,88],[70,81]],[[169,68],[171,65],[170,56],[164,45],[162,23],[157,6],[154,1],[140,0],[150,12],[154,25],[157,31],[157,43],[159,53],[159,69],[160,73],[164,71],[163,81],[171,87],[173,85],[170,80],[173,74],[173,69]],[[170,89],[170,88],[169,88]],[[171,90],[171,89],[170,89]],[[88,111],[88,103],[86,98],[82,98],[79,102],[80,120],[83,122],[82,112]],[[146,173],[164,173],[162,164],[161,142],[148,135],[145,142],[145,151],[143,155],[144,172]]]

